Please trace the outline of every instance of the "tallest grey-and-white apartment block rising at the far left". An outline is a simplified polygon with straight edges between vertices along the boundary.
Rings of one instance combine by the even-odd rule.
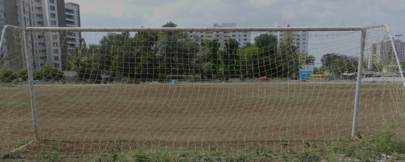
[[[14,4],[12,3],[14,1],[3,1],[6,7],[4,24],[21,27],[80,26],[79,6],[72,3],[65,4],[64,0],[16,0]],[[19,5],[19,2],[22,5]],[[17,10],[14,11],[14,9]],[[22,16],[20,13],[24,13],[26,16]],[[17,23],[8,22],[8,19],[17,21]],[[7,33],[10,35],[9,31]],[[32,42],[30,42],[32,48],[28,49],[32,51],[30,56],[33,57],[34,69],[45,64],[52,64],[55,68],[64,70],[63,61],[67,59],[69,51],[80,46],[80,33],[34,32],[28,37],[32,38]],[[11,44],[8,43],[8,48],[15,49],[11,47]],[[17,40],[15,44],[21,44],[21,41]]]

